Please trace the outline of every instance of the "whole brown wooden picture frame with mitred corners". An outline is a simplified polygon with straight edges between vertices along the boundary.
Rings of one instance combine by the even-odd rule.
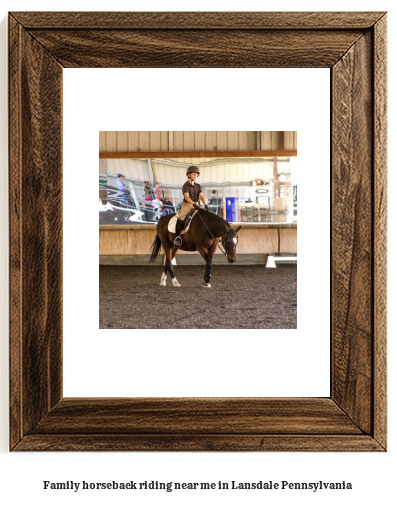
[[[9,43],[10,448],[384,451],[386,14],[17,12]],[[329,398],[63,398],[64,67],[331,69]]]

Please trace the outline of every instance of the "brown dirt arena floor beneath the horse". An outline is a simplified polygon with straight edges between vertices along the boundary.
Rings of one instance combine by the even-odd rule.
[[[181,287],[160,286],[161,266],[100,266],[100,329],[295,329],[297,266],[175,266]]]

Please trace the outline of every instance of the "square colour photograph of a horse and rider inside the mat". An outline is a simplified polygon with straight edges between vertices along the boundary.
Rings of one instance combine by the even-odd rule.
[[[99,142],[100,329],[296,329],[297,132]]]

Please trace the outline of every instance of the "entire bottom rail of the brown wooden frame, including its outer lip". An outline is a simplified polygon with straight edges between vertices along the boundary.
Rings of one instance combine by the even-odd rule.
[[[30,437],[20,450],[380,450],[325,398],[64,399]]]

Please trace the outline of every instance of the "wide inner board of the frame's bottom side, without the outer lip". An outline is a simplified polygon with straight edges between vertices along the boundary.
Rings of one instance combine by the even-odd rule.
[[[269,435],[362,434],[327,398],[64,399],[32,433],[249,435],[263,428]]]

